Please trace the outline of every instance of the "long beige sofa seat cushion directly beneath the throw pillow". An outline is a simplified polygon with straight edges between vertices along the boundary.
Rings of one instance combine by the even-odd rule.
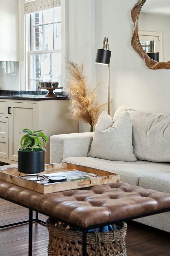
[[[147,173],[170,173],[170,163],[110,161],[96,157],[66,157],[62,162],[71,162],[99,170],[120,174],[120,181],[139,185],[139,178]]]

